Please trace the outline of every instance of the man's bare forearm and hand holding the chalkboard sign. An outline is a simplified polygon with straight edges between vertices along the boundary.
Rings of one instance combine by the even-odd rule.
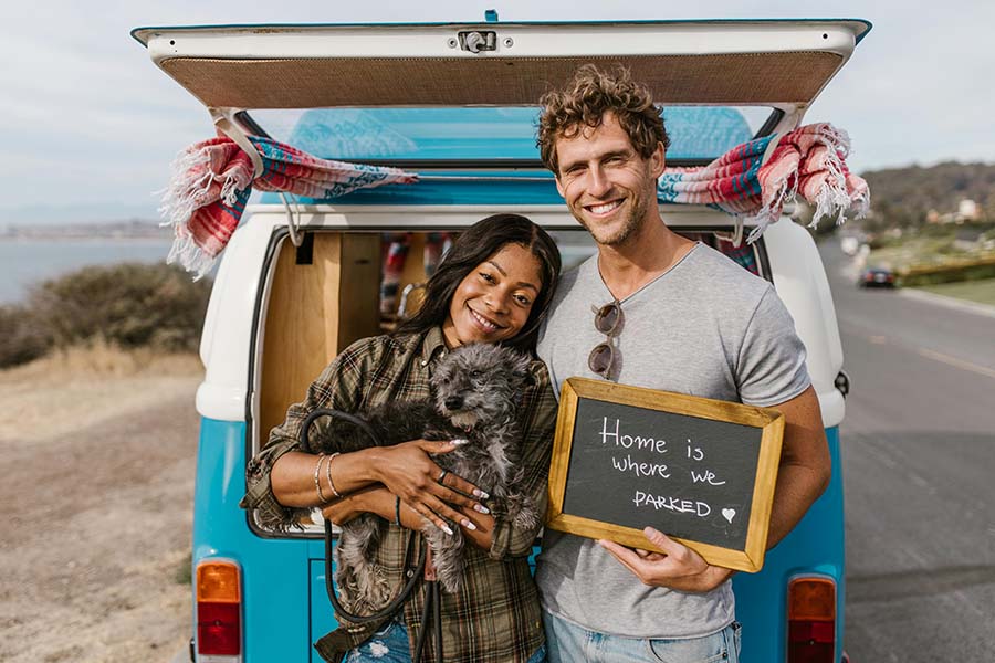
[[[784,414],[781,467],[774,488],[774,506],[767,530],[767,548],[773,548],[798,524],[808,507],[829,485],[832,473],[826,431],[815,389],[772,406]],[[614,541],[599,541],[643,583],[680,591],[705,592],[724,582],[733,571],[709,565],[694,550],[646,528],[646,537],[666,555],[631,550]]]

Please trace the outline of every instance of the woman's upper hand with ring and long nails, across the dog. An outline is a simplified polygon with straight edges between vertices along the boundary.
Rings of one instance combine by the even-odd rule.
[[[455,474],[443,474],[442,469],[430,457],[430,454],[449,453],[458,446],[454,442],[413,440],[364,451],[375,454],[371,465],[377,481],[419,515],[434,523],[439,529],[452,534],[447,520],[470,529],[475,528],[454,507],[467,507],[481,514],[490,513],[483,504],[472,498],[485,499],[486,493]]]

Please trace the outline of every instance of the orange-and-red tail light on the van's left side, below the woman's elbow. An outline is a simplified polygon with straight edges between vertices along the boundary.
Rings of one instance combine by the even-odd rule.
[[[242,654],[241,571],[233,561],[197,565],[197,651],[216,656]]]

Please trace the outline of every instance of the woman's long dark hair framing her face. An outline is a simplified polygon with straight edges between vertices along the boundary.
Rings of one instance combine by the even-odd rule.
[[[507,244],[524,246],[538,259],[543,282],[525,325],[502,345],[535,354],[538,328],[559,281],[559,250],[545,230],[521,214],[494,214],[462,232],[428,280],[421,308],[398,326],[397,334],[422,333],[441,326],[463,278]]]

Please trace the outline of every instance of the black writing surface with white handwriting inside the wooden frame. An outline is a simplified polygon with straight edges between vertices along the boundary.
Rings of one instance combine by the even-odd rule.
[[[745,545],[760,430],[580,399],[563,513]]]

